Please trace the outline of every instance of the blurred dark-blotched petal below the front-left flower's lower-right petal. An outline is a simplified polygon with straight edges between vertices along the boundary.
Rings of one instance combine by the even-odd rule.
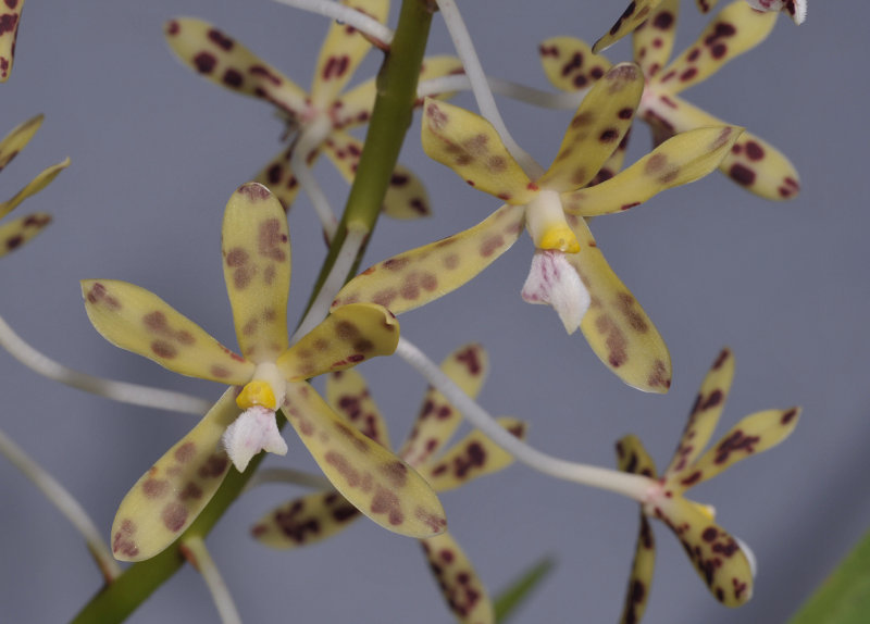
[[[251,535],[263,546],[286,550],[323,541],[361,515],[337,491],[319,491],[276,507],[257,521]]]

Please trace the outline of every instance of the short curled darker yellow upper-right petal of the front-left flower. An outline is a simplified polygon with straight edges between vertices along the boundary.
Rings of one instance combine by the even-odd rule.
[[[287,380],[302,380],[389,355],[399,344],[399,322],[372,303],[336,308],[284,354],[276,364]]]

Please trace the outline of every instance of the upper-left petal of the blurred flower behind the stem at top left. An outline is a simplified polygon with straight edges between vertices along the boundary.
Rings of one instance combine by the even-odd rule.
[[[301,88],[208,22],[175,17],[166,22],[163,33],[178,60],[212,83],[270,102],[291,118],[308,108]]]

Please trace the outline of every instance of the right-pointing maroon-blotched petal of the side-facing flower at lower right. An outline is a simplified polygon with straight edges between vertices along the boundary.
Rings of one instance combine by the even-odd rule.
[[[732,464],[776,446],[792,434],[799,416],[798,408],[766,410],[746,416],[698,458],[683,482],[691,479],[694,485],[707,481]]]

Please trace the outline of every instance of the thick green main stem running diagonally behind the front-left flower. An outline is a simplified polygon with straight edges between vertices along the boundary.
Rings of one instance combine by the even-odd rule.
[[[417,80],[431,24],[432,8],[426,0],[402,1],[396,36],[377,76],[377,98],[357,176],[309,305],[330,274],[348,227],[366,233],[374,229],[405,135],[411,125]],[[359,263],[359,259],[357,262]],[[177,545],[186,537],[204,538],[209,534],[241,494],[264,454],[256,457],[245,473],[231,470],[214,498],[172,547],[157,557],[127,567],[114,583],[107,585],[91,598],[73,620],[73,624],[122,622],[133,613],[185,563]]]

